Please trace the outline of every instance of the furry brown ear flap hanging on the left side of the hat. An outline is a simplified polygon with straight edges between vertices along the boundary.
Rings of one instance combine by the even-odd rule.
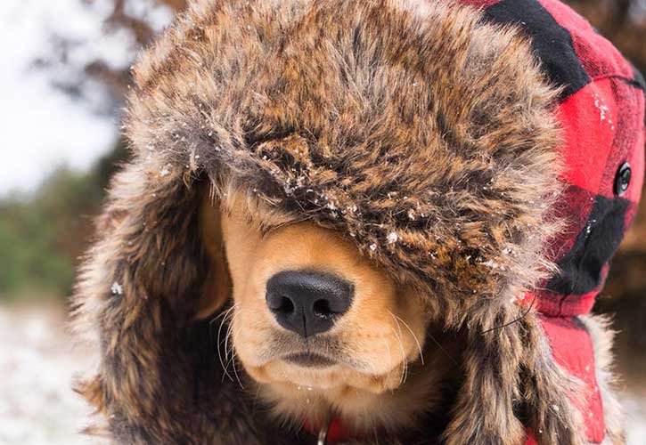
[[[193,332],[212,261],[200,233],[203,187],[185,172],[135,162],[117,174],[79,275],[76,328],[102,353],[81,389],[112,431],[128,432],[123,442],[173,437],[174,416],[194,401],[168,387],[192,387],[191,363],[212,349],[197,351]]]

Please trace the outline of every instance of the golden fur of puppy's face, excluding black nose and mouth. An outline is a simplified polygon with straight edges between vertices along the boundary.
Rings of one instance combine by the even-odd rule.
[[[261,384],[260,396],[274,401],[275,409],[295,423],[302,418],[321,422],[334,410],[348,424],[364,429],[412,425],[411,418],[429,408],[421,404],[424,395],[434,399],[428,393],[431,385],[412,384],[419,390],[418,403],[414,398],[401,401],[400,395],[377,396],[396,390],[412,363],[423,360],[429,320],[423,299],[412,289],[398,289],[386,273],[334,232],[295,223],[263,236],[249,221],[241,199],[230,200],[222,224],[233,277],[231,330],[241,364]],[[208,207],[203,210],[215,214]],[[331,353],[343,364],[310,370],[281,360],[282,355],[305,348],[298,336],[287,335],[266,306],[266,281],[289,270],[325,271],[354,283],[356,295],[348,314],[307,346],[310,351]],[[439,375],[429,369],[418,380],[437,382]],[[401,409],[405,403],[406,409]]]

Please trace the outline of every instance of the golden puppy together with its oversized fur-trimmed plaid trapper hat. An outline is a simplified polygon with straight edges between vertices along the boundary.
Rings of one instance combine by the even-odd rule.
[[[475,5],[475,6],[474,6]],[[624,442],[643,81],[555,0],[195,0],[79,271],[116,443]]]

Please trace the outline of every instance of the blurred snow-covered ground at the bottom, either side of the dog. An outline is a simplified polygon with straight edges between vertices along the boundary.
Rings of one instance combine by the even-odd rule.
[[[79,371],[93,366],[72,348],[64,315],[51,307],[0,305],[0,445],[80,445],[89,409],[71,390]],[[646,443],[646,387],[623,398],[628,445]]]

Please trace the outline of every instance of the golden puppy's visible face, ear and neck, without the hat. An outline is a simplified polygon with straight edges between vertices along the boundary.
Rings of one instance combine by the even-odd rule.
[[[339,233],[307,222],[264,232],[244,199],[220,211],[205,194],[200,207],[218,285],[199,317],[233,299],[217,322],[272,415],[323,431],[335,417],[354,437],[416,431],[429,415],[425,431],[437,429],[461,378],[462,336],[431,329],[424,298]]]

